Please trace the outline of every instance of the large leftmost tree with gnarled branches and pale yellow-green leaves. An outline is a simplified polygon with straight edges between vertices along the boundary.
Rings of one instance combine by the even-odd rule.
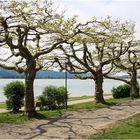
[[[64,21],[64,13],[56,13],[45,0],[0,1],[0,9],[0,67],[24,72],[24,112],[33,115],[36,72],[49,66],[50,52],[65,42],[69,20]]]

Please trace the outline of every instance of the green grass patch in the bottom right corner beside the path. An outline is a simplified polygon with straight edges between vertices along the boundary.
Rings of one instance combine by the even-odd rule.
[[[140,138],[140,114],[126,119],[121,123],[112,125],[89,139],[139,139]]]

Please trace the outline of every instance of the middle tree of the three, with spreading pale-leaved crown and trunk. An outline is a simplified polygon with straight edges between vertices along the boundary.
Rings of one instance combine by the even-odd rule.
[[[105,103],[103,98],[103,77],[113,69],[112,61],[124,55],[133,38],[134,25],[131,22],[113,21],[110,17],[94,19],[76,26],[78,34],[62,44],[62,55],[55,57],[61,69],[66,69],[80,79],[95,81],[95,100]],[[67,61],[67,67],[64,64]]]

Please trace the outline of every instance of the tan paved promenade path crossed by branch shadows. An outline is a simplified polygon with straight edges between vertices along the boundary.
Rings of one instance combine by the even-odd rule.
[[[25,124],[0,124],[1,139],[85,138],[140,113],[140,99],[102,109],[81,109]]]

